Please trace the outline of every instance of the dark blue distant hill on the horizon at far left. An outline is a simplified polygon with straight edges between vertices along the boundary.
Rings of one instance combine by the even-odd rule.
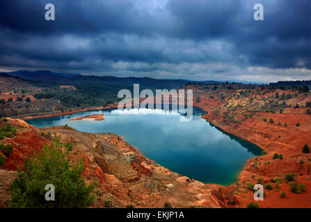
[[[70,78],[71,76],[79,76],[80,74],[62,74],[56,73],[48,70],[38,70],[38,71],[11,71],[8,72],[11,76],[18,76],[20,78],[26,78],[30,80],[40,80],[45,82],[58,82],[64,80],[65,78]]]

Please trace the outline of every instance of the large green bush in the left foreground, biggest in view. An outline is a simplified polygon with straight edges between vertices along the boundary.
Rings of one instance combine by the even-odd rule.
[[[17,177],[10,187],[10,207],[88,207],[95,198],[90,195],[94,185],[86,186],[81,178],[84,169],[83,160],[70,168],[69,152],[61,146],[56,137],[50,146],[44,146],[38,155],[27,157],[23,171],[17,171]],[[45,200],[45,185],[55,187],[55,200]]]

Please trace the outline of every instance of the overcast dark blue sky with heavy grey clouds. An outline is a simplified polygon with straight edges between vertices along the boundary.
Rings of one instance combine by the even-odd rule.
[[[54,3],[56,20],[45,20]],[[255,3],[264,21],[253,19]],[[1,0],[0,70],[311,79],[310,0]]]

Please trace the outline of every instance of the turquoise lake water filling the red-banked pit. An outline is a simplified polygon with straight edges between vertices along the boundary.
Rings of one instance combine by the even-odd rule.
[[[67,124],[89,133],[115,133],[171,171],[201,182],[233,183],[247,160],[260,155],[261,149],[210,125],[200,118],[200,110],[193,112],[191,121],[180,121],[179,113],[164,110],[100,110],[27,122],[37,128]],[[69,121],[102,113],[104,121]]]

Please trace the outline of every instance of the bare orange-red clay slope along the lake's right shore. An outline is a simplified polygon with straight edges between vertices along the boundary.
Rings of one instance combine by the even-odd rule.
[[[250,110],[250,97],[255,98],[257,94],[250,94],[248,98],[231,99],[225,96],[225,99],[219,99],[221,93],[232,94],[228,89],[218,89],[219,94],[204,94],[196,86],[193,87],[193,105],[208,111],[202,118],[212,123],[214,126],[221,128],[227,133],[231,133],[248,142],[257,144],[268,155],[253,157],[248,160],[244,170],[239,176],[237,184],[222,189],[227,198],[235,201],[232,207],[246,207],[251,201],[256,202],[260,207],[308,207],[311,208],[311,154],[302,153],[304,144],[311,147],[311,115],[306,114],[306,101],[311,100],[310,95],[301,94],[293,99],[287,100],[287,105],[292,107],[298,103],[303,108],[285,108],[282,113],[270,112],[252,112],[252,117],[246,117],[242,112]],[[227,92],[226,92],[227,90]],[[228,92],[229,91],[229,92]],[[236,90],[231,90],[237,94]],[[289,91],[294,94],[294,92]],[[267,92],[265,96],[272,96],[276,90]],[[282,92],[278,90],[281,95]],[[285,92],[286,94],[287,92]],[[214,99],[209,96],[214,97]],[[294,97],[294,96],[293,96]],[[229,111],[225,107],[225,102],[229,104],[240,105],[235,111]],[[233,118],[229,118],[234,114]],[[263,119],[266,118],[265,122]],[[273,123],[269,122],[273,119]],[[280,122],[280,123],[279,123]],[[287,123],[287,126],[284,126]],[[299,123],[300,126],[296,126]],[[274,153],[282,154],[283,159],[273,160]],[[272,190],[265,189],[266,197],[264,201],[254,201],[253,191],[248,191],[246,185],[251,182],[257,184],[257,179],[262,178],[263,184],[270,182],[271,178],[284,178],[287,173],[295,173],[295,180],[298,185],[301,183],[307,187],[307,191],[301,194],[294,194],[289,189],[289,184],[282,181],[282,185],[276,189],[276,184]],[[285,191],[286,197],[280,197],[280,191]],[[238,204],[237,204],[238,203]]]

